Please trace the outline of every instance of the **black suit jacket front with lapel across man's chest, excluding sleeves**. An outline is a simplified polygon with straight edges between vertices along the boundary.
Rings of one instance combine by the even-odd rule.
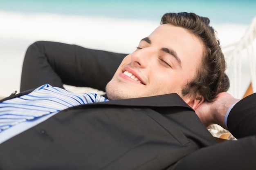
[[[0,169],[161,170],[213,144],[177,94],[124,99],[68,108],[5,141]]]

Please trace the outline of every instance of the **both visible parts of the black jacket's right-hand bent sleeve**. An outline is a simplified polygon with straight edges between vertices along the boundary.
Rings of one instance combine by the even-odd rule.
[[[175,170],[255,170],[256,93],[240,100],[227,119],[237,141],[225,141],[197,150],[175,163]]]

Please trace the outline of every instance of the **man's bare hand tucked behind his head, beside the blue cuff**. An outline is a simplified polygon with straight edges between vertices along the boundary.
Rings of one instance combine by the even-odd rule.
[[[225,126],[225,115],[227,110],[239,100],[240,99],[235,99],[227,92],[222,92],[217,96],[217,99],[214,102],[203,102],[195,109],[195,113],[205,127],[208,127],[211,124],[218,124],[227,129]]]

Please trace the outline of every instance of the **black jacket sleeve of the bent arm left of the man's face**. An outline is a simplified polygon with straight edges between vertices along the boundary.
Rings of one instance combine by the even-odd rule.
[[[48,83],[62,87],[92,87],[105,91],[126,54],[86,49],[59,42],[38,41],[25,54],[20,91]]]

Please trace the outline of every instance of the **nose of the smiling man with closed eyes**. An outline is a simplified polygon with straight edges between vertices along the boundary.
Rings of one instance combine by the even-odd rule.
[[[152,55],[149,49],[139,49],[132,53],[131,62],[140,68],[146,68],[150,64]]]

